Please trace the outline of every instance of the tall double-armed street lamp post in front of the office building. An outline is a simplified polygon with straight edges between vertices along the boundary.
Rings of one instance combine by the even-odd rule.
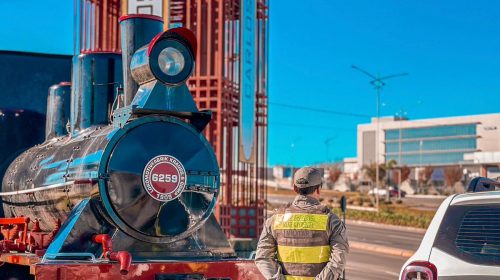
[[[382,91],[382,88],[385,86],[385,80],[387,79],[392,79],[392,78],[397,78],[401,76],[407,76],[408,73],[398,73],[398,74],[393,74],[393,75],[388,75],[388,76],[380,76],[380,75],[373,75],[370,72],[356,66],[352,65],[351,66],[354,70],[357,70],[366,76],[370,77],[372,80],[370,81],[370,84],[373,85],[375,88],[375,92],[377,94],[377,130],[375,131],[375,165],[376,165],[376,171],[375,171],[375,188],[376,188],[376,195],[375,195],[375,204],[377,205],[377,210],[379,209],[379,198],[378,198],[378,192],[380,189],[379,186],[379,130],[380,130],[380,92]]]

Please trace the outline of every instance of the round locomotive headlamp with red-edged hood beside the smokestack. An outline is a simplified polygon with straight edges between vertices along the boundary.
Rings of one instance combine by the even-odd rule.
[[[194,68],[194,35],[186,28],[174,28],[157,35],[138,49],[130,64],[132,77],[139,84],[159,80],[176,86],[187,80]]]

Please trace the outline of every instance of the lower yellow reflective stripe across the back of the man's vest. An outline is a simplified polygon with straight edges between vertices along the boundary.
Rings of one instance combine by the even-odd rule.
[[[324,263],[330,259],[330,246],[280,246],[278,260],[287,263]]]

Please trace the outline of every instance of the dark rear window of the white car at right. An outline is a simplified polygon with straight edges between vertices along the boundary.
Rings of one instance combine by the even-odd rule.
[[[450,206],[434,247],[470,263],[499,265],[500,205]]]

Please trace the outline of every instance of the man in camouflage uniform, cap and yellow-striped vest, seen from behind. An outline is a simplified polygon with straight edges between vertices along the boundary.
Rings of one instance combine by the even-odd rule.
[[[267,280],[341,279],[349,251],[346,229],[318,201],[321,186],[318,169],[297,170],[295,200],[266,220],[255,263]]]

